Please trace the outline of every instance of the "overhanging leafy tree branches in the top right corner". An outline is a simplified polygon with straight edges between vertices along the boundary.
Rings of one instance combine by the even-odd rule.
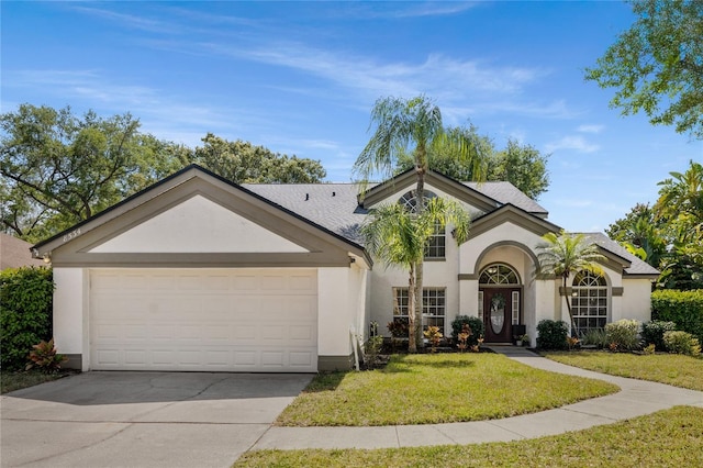
[[[703,2],[632,1],[635,23],[585,79],[616,88],[611,105],[624,115],[644,111],[652,124],[703,138]]]

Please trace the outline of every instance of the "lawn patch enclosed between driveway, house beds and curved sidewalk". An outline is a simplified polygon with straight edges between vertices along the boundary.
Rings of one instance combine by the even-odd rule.
[[[395,355],[384,369],[321,375],[279,416],[287,426],[378,426],[509,417],[614,393],[616,386],[498,354]]]

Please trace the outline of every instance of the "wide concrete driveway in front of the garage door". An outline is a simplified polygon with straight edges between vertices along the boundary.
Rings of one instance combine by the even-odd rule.
[[[228,467],[312,375],[86,372],[2,395],[2,467]]]

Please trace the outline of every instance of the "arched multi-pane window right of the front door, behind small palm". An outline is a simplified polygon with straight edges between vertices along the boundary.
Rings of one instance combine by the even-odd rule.
[[[579,271],[571,289],[571,312],[579,333],[603,328],[607,323],[607,285],[605,278]]]

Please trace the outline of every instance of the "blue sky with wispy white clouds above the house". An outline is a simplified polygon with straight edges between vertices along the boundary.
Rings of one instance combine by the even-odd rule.
[[[242,138],[349,181],[373,102],[425,94],[448,125],[550,153],[539,202],[569,231],[602,231],[703,160],[703,142],[583,80],[634,21],[621,2],[3,1],[1,21],[2,112],[131,112],[159,138]]]

